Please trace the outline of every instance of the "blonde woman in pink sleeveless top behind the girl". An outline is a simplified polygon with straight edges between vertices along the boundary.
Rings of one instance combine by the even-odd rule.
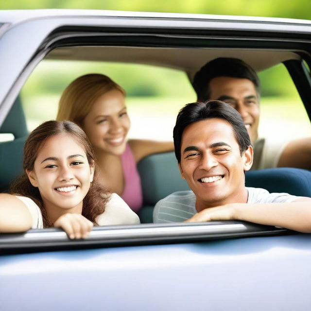
[[[173,150],[173,142],[127,141],[125,91],[102,74],[71,82],[60,99],[56,120],[70,120],[83,128],[95,151],[102,184],[138,212],[142,190],[137,163],[146,155]]]

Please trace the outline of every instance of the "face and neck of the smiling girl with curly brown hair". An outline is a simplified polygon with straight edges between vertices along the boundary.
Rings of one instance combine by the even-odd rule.
[[[55,212],[82,211],[82,200],[93,180],[94,168],[84,148],[70,135],[55,135],[39,148],[34,171],[27,171],[38,187],[44,206]]]

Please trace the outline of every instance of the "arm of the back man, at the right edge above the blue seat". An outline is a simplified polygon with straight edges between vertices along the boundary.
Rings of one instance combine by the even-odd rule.
[[[277,166],[311,170],[311,138],[290,141],[283,150]]]

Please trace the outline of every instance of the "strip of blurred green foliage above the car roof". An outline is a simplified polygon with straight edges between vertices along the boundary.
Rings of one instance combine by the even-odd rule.
[[[0,9],[96,9],[310,19],[310,0],[2,0]]]

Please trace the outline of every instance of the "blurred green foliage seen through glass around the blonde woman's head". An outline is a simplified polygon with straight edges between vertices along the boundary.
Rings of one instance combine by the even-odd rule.
[[[22,95],[61,94],[75,78],[102,73],[121,85],[128,97],[185,96],[195,98],[184,72],[148,65],[82,61],[42,61],[22,89]],[[47,79],[48,74],[48,79]]]

